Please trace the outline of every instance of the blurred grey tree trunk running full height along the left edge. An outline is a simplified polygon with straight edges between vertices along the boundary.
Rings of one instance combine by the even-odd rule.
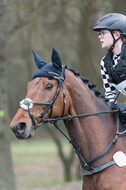
[[[9,143],[9,116],[8,116],[8,84],[6,41],[8,33],[7,4],[10,2],[0,1],[0,189],[15,190],[15,180],[12,167],[10,143]]]

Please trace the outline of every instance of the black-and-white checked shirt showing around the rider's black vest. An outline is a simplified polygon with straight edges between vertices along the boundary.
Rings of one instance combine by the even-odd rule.
[[[121,83],[114,84],[109,82],[109,75],[105,68],[105,63],[103,61],[104,57],[101,60],[101,76],[103,79],[103,86],[105,90],[105,97],[109,99],[109,102],[114,101],[116,97],[116,90],[121,90],[122,94],[126,96],[126,80]],[[113,55],[113,67],[118,64],[118,60],[120,59],[120,55]]]

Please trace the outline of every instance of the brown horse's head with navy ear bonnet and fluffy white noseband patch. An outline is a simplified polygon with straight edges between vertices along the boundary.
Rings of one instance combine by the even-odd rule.
[[[53,49],[51,63],[46,63],[35,51],[33,55],[38,70],[33,73],[26,97],[10,124],[19,139],[33,136],[43,118],[66,115],[69,107],[69,94],[63,85],[65,66],[58,52]]]

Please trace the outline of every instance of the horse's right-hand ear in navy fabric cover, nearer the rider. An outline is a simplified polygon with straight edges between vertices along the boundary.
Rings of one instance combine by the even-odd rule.
[[[56,67],[57,69],[62,69],[62,62],[60,59],[60,55],[57,52],[57,50],[54,48],[52,51],[52,63],[53,63],[53,66]]]

